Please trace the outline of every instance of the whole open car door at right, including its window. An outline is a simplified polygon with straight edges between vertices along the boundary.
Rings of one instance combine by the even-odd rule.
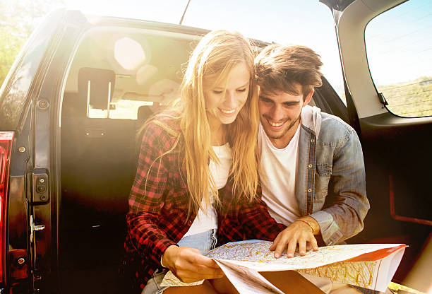
[[[428,293],[432,34],[427,13],[432,5],[420,0],[320,1],[335,18],[349,123],[361,138],[371,202],[364,231],[352,242],[409,245],[394,281]]]

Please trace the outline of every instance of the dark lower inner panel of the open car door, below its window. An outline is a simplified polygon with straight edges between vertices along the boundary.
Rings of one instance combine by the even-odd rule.
[[[352,242],[409,245],[395,274],[402,283],[432,233],[432,124],[379,114],[360,119],[371,210]]]

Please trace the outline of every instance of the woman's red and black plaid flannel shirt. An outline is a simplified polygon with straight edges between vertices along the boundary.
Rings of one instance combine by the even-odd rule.
[[[134,286],[143,288],[156,269],[165,249],[175,245],[188,231],[196,215],[187,218],[188,189],[184,182],[183,157],[175,138],[157,124],[149,124],[143,134],[135,182],[126,216],[128,235],[123,266],[135,266]],[[155,161],[155,159],[157,159]],[[151,168],[150,168],[151,167]],[[219,190],[217,206],[218,244],[245,239],[273,240],[284,225],[276,223],[258,197],[233,201],[232,179]],[[243,197],[246,198],[246,197]],[[128,269],[131,271],[131,269]]]

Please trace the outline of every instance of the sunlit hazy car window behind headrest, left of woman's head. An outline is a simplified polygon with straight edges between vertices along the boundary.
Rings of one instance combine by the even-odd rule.
[[[95,28],[71,64],[63,117],[146,119],[179,97],[194,36]]]

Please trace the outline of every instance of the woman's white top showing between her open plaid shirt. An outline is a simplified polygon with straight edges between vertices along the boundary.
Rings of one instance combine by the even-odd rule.
[[[210,160],[208,169],[215,181],[216,188],[221,189],[227,184],[229,169],[232,165],[232,150],[228,143],[224,146],[212,146],[212,148],[217,158],[219,158],[220,164],[216,164],[213,160]],[[205,207],[203,201],[202,206],[205,211],[201,208],[198,210],[198,215],[184,236],[195,235],[217,228],[217,214],[213,207],[213,202],[210,206]]]

